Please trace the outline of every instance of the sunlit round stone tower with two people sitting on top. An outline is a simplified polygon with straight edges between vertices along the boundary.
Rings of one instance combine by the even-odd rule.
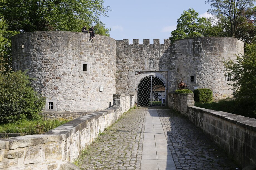
[[[27,70],[46,97],[44,111],[98,111],[115,94],[116,40],[88,33],[43,31],[12,37],[14,70]]]

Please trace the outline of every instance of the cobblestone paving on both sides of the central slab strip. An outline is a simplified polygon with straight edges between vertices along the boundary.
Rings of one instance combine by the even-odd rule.
[[[151,109],[156,109],[160,116],[163,132],[178,170],[239,169],[202,130],[166,108],[136,108],[125,113],[82,154],[81,168],[141,169],[146,113]],[[152,161],[149,160],[150,162]],[[151,169],[155,168],[148,168]]]

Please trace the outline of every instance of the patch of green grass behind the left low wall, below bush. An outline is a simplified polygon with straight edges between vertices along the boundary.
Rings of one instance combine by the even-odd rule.
[[[0,133],[21,133],[22,135],[33,135],[46,133],[69,120],[22,120],[19,123],[7,123],[0,125]]]

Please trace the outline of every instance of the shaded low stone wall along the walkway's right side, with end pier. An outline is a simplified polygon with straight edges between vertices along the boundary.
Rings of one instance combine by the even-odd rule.
[[[193,94],[169,94],[169,107],[200,127],[241,167],[256,164],[256,119],[191,106],[192,98]]]

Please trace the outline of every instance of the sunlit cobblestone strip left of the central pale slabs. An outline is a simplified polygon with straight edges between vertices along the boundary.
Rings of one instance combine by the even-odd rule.
[[[82,169],[140,169],[147,108],[132,109],[88,149]]]

